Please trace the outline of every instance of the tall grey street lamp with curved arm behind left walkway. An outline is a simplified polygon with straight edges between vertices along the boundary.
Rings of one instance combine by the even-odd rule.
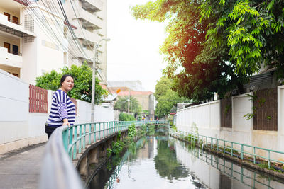
[[[96,63],[97,63],[97,50],[99,48],[99,43],[102,42],[102,40],[109,41],[111,39],[109,38],[102,38],[99,40],[99,42],[94,43],[94,58],[93,58],[93,67],[92,67],[92,117],[91,122],[94,122],[94,93],[95,93],[95,84],[96,84]]]

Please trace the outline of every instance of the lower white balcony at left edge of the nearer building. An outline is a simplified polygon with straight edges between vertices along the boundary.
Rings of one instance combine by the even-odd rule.
[[[0,47],[0,62],[6,66],[10,67],[22,67],[23,57],[21,53],[9,52],[5,47]]]

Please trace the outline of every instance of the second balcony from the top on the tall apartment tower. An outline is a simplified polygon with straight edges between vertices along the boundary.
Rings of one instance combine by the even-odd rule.
[[[88,11],[85,11],[83,8],[78,8],[79,15],[78,18],[82,20],[83,25],[85,27],[91,27],[93,29],[101,29],[102,28],[102,20],[99,19],[95,14],[89,13]],[[76,16],[73,16],[73,19],[75,19]]]

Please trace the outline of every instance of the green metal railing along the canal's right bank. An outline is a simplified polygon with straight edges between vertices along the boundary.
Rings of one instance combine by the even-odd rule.
[[[170,134],[175,135],[176,137],[182,138],[182,139],[189,139],[191,142],[197,142],[198,144],[204,144],[207,147],[209,146],[211,149],[217,149],[217,151],[222,152],[223,154],[230,154],[231,156],[236,156],[240,158],[241,160],[244,160],[244,155],[247,154],[247,156],[253,158],[252,162],[253,164],[256,164],[257,159],[266,160],[268,161],[268,168],[271,168],[271,163],[280,163],[284,164],[284,161],[280,161],[278,159],[272,159],[271,153],[275,154],[283,154],[284,158],[284,152],[283,151],[276,151],[273,149],[265,149],[261,147],[255,147],[251,146],[249,144],[241,144],[239,142],[231,142],[224,139],[218,139],[214,137],[208,137],[201,134],[195,134],[190,132],[183,132],[183,131],[175,131],[170,129]],[[239,148],[237,148],[239,147]],[[244,148],[251,149],[251,150],[244,150]],[[256,150],[262,150],[266,151],[267,156],[256,154]],[[249,152],[253,151],[253,152]]]

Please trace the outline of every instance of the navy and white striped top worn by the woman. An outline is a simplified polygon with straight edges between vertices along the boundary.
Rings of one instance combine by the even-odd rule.
[[[75,122],[76,108],[67,93],[58,89],[53,93],[53,101],[51,103],[50,115],[48,118],[48,126],[60,127],[63,119],[67,118],[70,125]]]

